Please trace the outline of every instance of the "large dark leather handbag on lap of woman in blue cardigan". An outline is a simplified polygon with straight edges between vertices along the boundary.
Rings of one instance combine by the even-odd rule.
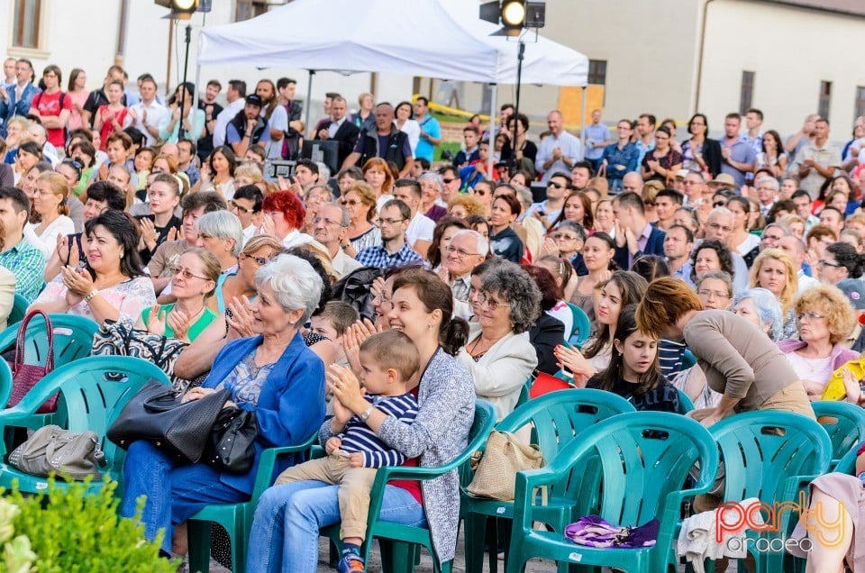
[[[183,396],[173,387],[151,382],[123,407],[108,429],[108,439],[124,450],[137,440],[147,440],[179,459],[195,463],[205,452],[216,417],[231,397],[218,390],[181,404]]]

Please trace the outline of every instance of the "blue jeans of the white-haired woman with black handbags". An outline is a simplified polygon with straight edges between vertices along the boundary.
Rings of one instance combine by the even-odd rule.
[[[149,441],[134,441],[123,464],[123,517],[134,517],[138,498],[147,496],[141,522],[144,536],[165,531],[161,549],[171,552],[175,523],[184,523],[211,504],[236,504],[250,495],[219,481],[219,472],[204,463],[184,464]]]

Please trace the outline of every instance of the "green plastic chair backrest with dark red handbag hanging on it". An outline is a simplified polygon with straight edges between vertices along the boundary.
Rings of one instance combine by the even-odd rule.
[[[93,335],[99,325],[85,316],[50,314],[54,333],[54,366],[59,368],[73,360],[90,355]],[[14,348],[20,324],[7,326],[0,332],[0,352]],[[44,364],[48,355],[48,337],[41,317],[34,317],[27,325],[24,359],[27,364]]]

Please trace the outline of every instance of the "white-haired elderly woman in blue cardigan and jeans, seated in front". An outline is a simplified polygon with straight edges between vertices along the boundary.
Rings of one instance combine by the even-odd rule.
[[[231,474],[184,463],[149,441],[132,442],[126,456],[121,513],[133,517],[146,496],[145,537],[155,540],[162,530],[160,553],[167,557],[186,553],[180,524],[203,507],[250,499],[263,449],[302,443],[324,420],[323,363],[299,333],[319,303],[322,278],[305,260],[280,255],[259,268],[255,286],[258,297],[250,310],[256,335],[225,345],[205,384],[184,396],[188,402],[224,388],[231,391],[228,404],[255,413],[259,432],[250,471]],[[287,456],[278,471],[300,460]]]

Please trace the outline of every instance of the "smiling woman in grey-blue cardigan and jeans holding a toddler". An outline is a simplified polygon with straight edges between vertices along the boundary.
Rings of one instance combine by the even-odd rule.
[[[452,357],[465,342],[466,324],[451,320],[451,289],[429,272],[405,271],[396,277],[393,293],[387,322],[405,332],[420,354],[420,383],[413,388],[419,404],[414,422],[402,423],[370,405],[348,370],[332,367],[328,389],[334,402],[364,420],[388,447],[406,459],[416,458],[421,467],[440,466],[465,449],[474,418],[471,375]],[[342,430],[341,418],[323,423],[320,441],[326,444]],[[299,481],[267,490],[255,511],[247,570],[314,572],[319,528],[340,521],[338,489],[320,481]],[[453,559],[456,550],[459,477],[454,470],[423,481],[420,489],[423,496],[416,482],[388,484],[378,516],[396,523],[429,523],[436,559],[443,563]],[[356,563],[360,557],[353,560]]]

